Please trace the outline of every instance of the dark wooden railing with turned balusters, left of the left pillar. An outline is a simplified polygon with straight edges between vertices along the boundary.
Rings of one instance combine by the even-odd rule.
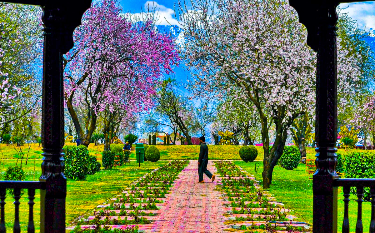
[[[6,189],[11,188],[13,189],[13,198],[14,198],[14,225],[13,225],[13,233],[20,233],[20,198],[21,198],[21,190],[27,189],[28,194],[28,205],[29,205],[29,216],[28,216],[28,226],[27,226],[27,233],[34,233],[34,199],[35,199],[35,190],[36,189],[45,189],[45,182],[40,181],[0,181],[0,233],[6,233],[5,227],[5,196],[6,196]]]

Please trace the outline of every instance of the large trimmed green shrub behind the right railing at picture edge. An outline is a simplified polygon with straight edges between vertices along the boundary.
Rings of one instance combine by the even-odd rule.
[[[351,152],[345,155],[344,172],[345,178],[375,178],[375,154],[372,152]],[[351,192],[356,194],[356,188],[352,187]],[[369,188],[364,188],[363,199],[370,200]]]

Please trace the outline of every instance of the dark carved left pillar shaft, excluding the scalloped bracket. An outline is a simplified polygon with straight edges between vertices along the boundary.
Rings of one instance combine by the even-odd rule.
[[[43,6],[43,97],[42,97],[42,176],[40,191],[40,232],[65,232],[66,178],[64,171],[64,105],[61,12]]]

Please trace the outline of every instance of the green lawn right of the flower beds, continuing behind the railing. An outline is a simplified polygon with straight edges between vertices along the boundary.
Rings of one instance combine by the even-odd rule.
[[[237,166],[242,167],[255,178],[262,182],[263,163],[259,163],[260,167],[258,173],[255,173],[255,162],[245,163],[243,161],[235,161]],[[270,193],[273,194],[278,201],[285,204],[286,208],[291,209],[292,215],[295,215],[307,223],[312,224],[312,180],[309,180],[308,175],[305,175],[305,165],[300,164],[297,169],[293,171],[285,170],[279,166],[275,167],[273,171],[272,185]],[[344,218],[344,202],[342,199],[342,188],[339,189],[338,196],[338,232],[341,232],[342,221]],[[351,232],[355,232],[357,221],[357,202],[356,196],[351,195],[351,202],[349,203],[349,221]],[[368,232],[371,220],[371,203],[363,203],[362,211],[363,232]]]

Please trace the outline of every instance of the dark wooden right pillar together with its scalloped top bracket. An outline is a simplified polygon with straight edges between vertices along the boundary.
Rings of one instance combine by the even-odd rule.
[[[337,232],[337,47],[336,7],[340,3],[362,2],[338,0],[289,0],[296,9],[299,22],[305,25],[307,44],[317,52],[315,151],[317,171],[313,175],[313,232]],[[340,179],[341,180],[341,179]],[[361,182],[360,179],[357,181]],[[345,195],[344,195],[345,196]],[[348,194],[349,196],[349,194]],[[359,200],[362,197],[359,197]],[[349,199],[345,203],[347,208]],[[345,202],[345,200],[344,200]],[[347,212],[346,212],[347,214]],[[362,229],[357,221],[356,232]],[[349,223],[343,224],[343,232]],[[374,230],[374,229],[373,229]]]

